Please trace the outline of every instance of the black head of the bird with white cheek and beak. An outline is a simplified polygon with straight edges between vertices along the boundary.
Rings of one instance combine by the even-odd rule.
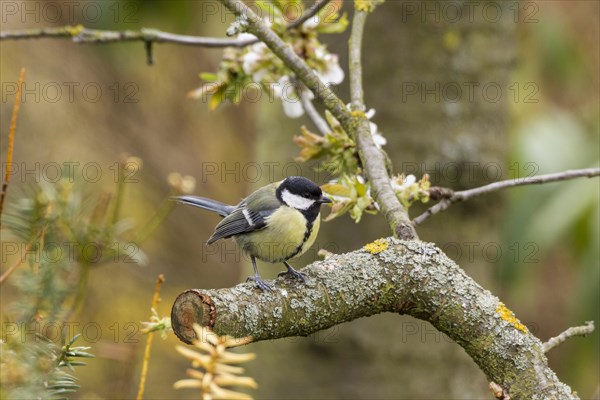
[[[288,176],[277,188],[277,199],[288,207],[300,211],[319,209],[323,203],[331,203],[323,196],[321,188],[309,179],[301,176]]]

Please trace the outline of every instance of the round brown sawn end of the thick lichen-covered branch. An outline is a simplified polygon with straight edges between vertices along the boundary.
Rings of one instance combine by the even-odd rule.
[[[198,289],[190,289],[175,299],[171,310],[171,325],[179,340],[192,344],[197,339],[194,324],[212,329],[216,316],[217,310],[210,297]]]

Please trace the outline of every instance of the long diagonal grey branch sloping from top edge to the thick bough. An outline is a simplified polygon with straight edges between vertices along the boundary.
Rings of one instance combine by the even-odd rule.
[[[386,168],[386,158],[375,145],[369,120],[361,111],[350,112],[344,102],[324,84],[317,74],[263,20],[240,0],[219,0],[225,7],[248,23],[248,31],[262,40],[291,69],[325,108],[356,140],[359,156],[373,191],[373,197],[396,236],[404,240],[417,239],[408,212],[396,197]]]

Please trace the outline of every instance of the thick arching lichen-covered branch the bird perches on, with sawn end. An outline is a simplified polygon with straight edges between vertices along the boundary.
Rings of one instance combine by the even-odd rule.
[[[272,293],[249,283],[188,290],[173,305],[173,329],[187,343],[196,322],[219,335],[270,340],[382,312],[408,314],[462,346],[513,399],[577,398],[548,368],[540,340],[432,244],[382,239],[303,272],[306,284],[278,278]]]

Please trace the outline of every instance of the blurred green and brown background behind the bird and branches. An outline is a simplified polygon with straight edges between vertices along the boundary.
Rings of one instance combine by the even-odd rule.
[[[374,121],[388,139],[396,172],[429,173],[435,185],[461,189],[598,166],[599,4],[483,1],[468,8],[390,0],[381,6],[365,31],[366,102],[377,110]],[[232,21],[213,0],[1,6],[2,30],[81,23],[223,36]],[[343,7],[351,14],[349,2]],[[322,38],[346,71],[347,37]],[[324,183],[327,176],[293,161],[292,137],[310,122],[287,119],[278,100],[262,96],[209,112],[207,101],[186,97],[200,86],[200,72],[216,70],[221,54],[156,44],[155,65],[148,66],[137,42],[0,42],[3,162],[17,76],[21,67],[27,70],[7,202],[20,187],[50,180],[64,162],[79,163],[76,176],[91,190],[112,191],[123,153],[143,160],[125,190],[124,214],[137,226],[170,193],[171,172],[194,176],[195,193],[230,203],[286,175]],[[346,84],[336,92],[348,98]],[[89,175],[96,170],[97,181]],[[418,232],[547,340],[569,326],[600,321],[599,189],[597,179],[513,189],[455,205]],[[411,215],[423,209],[415,206]],[[115,262],[92,270],[84,307],[72,321],[80,344],[92,346],[97,358],[77,370],[77,397],[135,396],[145,342],[140,322],[149,319],[159,273],[166,277],[161,315],[185,289],[232,286],[250,274],[232,242],[204,244],[217,222],[217,216],[176,207],[144,243],[146,266]],[[344,252],[389,234],[381,216],[359,225],[337,219],[321,229],[313,251],[295,265],[316,259],[319,248]],[[12,264],[4,258],[3,270]],[[279,272],[279,266],[259,268],[268,278]],[[10,320],[16,296],[10,280],[0,295],[2,320]],[[178,343],[174,335],[155,340],[146,398],[197,398],[194,391],[172,389],[188,366],[174,351]],[[428,323],[404,316],[361,319],[248,350],[258,354],[248,365],[259,383],[251,392],[256,398],[490,397],[485,376],[462,349]],[[548,358],[582,398],[599,398],[598,331],[562,344]]]

